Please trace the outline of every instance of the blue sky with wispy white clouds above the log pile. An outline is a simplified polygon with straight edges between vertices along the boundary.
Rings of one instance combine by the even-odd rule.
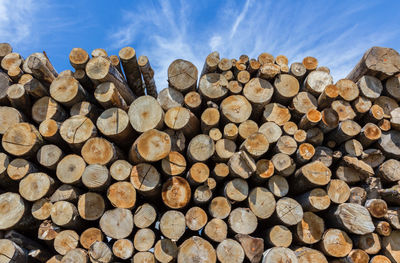
[[[112,3],[111,3],[112,2]],[[201,71],[205,57],[315,56],[335,80],[371,46],[400,51],[400,1],[33,1],[0,0],[0,42],[27,57],[46,51],[58,71],[72,69],[73,47],[118,54],[132,46],[167,86],[177,58]]]

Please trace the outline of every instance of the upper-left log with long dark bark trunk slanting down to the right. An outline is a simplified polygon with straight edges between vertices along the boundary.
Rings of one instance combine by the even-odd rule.
[[[86,73],[94,82],[113,82],[119,94],[130,104],[135,98],[119,71],[104,57],[94,57],[86,64]]]

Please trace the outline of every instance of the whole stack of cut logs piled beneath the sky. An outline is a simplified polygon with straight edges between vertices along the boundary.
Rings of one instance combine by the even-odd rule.
[[[395,50],[336,83],[213,52],[159,93],[131,47],[0,59],[1,263],[400,262]]]

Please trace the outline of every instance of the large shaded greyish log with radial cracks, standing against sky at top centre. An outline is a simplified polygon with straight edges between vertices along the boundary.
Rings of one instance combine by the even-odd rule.
[[[174,60],[168,67],[169,86],[183,94],[195,90],[197,76],[196,66],[183,59]]]

